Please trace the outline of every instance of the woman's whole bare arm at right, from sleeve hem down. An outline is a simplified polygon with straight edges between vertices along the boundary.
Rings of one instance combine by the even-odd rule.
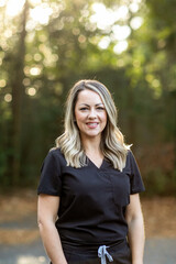
[[[130,196],[125,219],[129,226],[128,239],[132,252],[132,264],[143,264],[145,235],[139,194]]]

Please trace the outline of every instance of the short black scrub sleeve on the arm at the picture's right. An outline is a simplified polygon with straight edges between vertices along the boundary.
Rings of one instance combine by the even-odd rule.
[[[123,172],[130,176],[131,195],[145,190],[145,187],[141,177],[140,168],[131,151],[129,151],[128,153],[127,164],[125,164],[125,167],[123,168]]]

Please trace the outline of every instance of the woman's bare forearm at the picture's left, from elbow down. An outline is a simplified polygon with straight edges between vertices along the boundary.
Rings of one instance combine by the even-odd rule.
[[[38,227],[44,248],[52,263],[67,264],[55,226],[51,223],[40,223]]]

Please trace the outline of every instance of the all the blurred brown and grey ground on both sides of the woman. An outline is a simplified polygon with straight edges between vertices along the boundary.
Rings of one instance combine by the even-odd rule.
[[[176,198],[142,199],[144,264],[176,264]],[[0,196],[0,264],[48,263],[36,224],[35,190]]]

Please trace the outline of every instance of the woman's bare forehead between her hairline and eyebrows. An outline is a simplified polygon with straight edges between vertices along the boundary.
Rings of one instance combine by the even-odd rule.
[[[92,90],[86,89],[78,94],[77,103],[103,103],[101,97]]]

